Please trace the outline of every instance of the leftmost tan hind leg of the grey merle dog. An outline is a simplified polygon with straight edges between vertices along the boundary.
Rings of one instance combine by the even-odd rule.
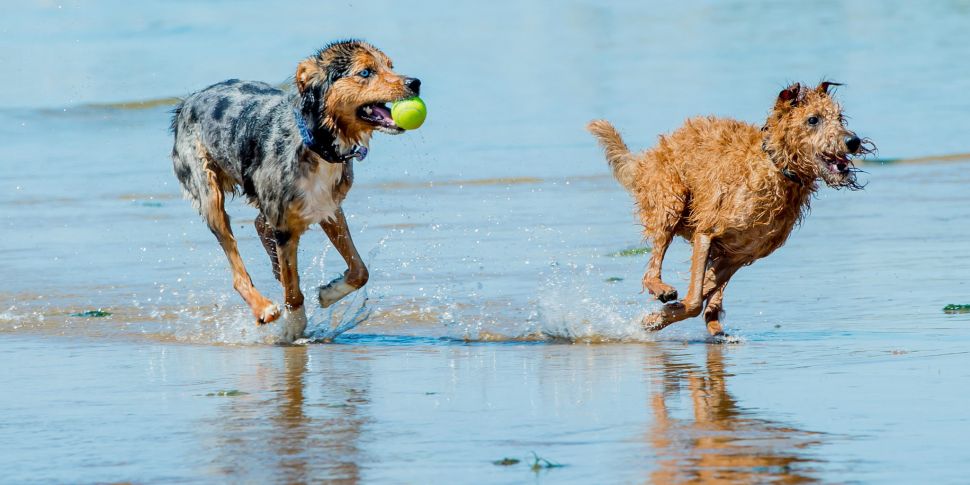
[[[249,308],[256,316],[259,324],[269,323],[280,316],[280,309],[273,302],[261,295],[253,286],[253,280],[246,271],[242,257],[239,256],[239,248],[236,246],[236,238],[232,234],[232,227],[229,225],[229,214],[225,208],[225,193],[223,185],[220,184],[219,172],[214,169],[210,162],[204,162],[208,194],[205,200],[201,200],[201,212],[205,217],[209,230],[215,234],[222,246],[226,258],[229,259],[229,267],[232,269],[232,286],[239,292],[239,295],[246,300]]]

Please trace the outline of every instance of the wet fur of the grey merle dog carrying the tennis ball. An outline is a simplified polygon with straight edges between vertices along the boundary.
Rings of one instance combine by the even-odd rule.
[[[360,76],[364,69],[373,74]],[[295,245],[313,224],[333,233],[331,240],[348,262],[346,283],[359,288],[367,270],[340,210],[353,183],[353,160],[342,157],[366,147],[374,130],[403,131],[377,127],[357,113],[368,103],[417,95],[419,82],[409,84],[414,81],[396,74],[390,58],[374,46],[339,41],[299,63],[294,90],[231,79],[175,108],[175,175],[226,252],[233,284],[259,323],[274,320],[279,310],[252,287],[223,207],[225,194],[242,193],[259,210],[256,228],[289,308],[303,303]],[[304,143],[294,113],[312,134],[312,145]]]

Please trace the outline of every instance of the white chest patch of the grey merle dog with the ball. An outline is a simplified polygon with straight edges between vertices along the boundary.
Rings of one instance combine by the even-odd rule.
[[[333,218],[347,195],[349,184],[350,180],[344,179],[344,165],[337,163],[320,163],[316,170],[300,177],[296,182],[300,191],[300,219],[309,225]]]

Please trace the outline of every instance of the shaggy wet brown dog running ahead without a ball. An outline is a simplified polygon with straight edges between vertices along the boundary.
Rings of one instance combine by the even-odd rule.
[[[636,199],[653,253],[643,286],[668,303],[644,319],[659,330],[695,317],[722,333],[724,288],[734,273],[778,249],[809,207],[821,179],[830,187],[861,188],[850,157],[873,146],[845,127],[829,93],[835,83],[783,90],[762,128],[725,118],[692,118],[656,147],[632,154],[604,120],[588,129],[606,151],[613,175]],[[687,296],[661,279],[671,240],[693,245]]]

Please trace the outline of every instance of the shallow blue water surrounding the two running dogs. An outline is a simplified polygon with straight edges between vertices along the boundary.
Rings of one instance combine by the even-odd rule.
[[[970,315],[942,308],[970,303],[970,160],[822,191],[732,280],[737,338],[711,345],[699,321],[638,328],[647,256],[612,255],[639,228],[582,129],[607,117],[645,147],[827,77],[880,158],[967,153],[965,2],[229,5],[0,19],[5,480],[965,481]],[[268,345],[280,325],[255,328],[179,197],[166,103],[282,82],[345,36],[421,77],[431,114],[358,165],[345,207],[371,281],[308,308],[310,337],[368,318]],[[278,299],[254,211],[230,213]],[[688,256],[665,267],[681,288]],[[300,258],[308,293],[344,269],[319,231]]]

